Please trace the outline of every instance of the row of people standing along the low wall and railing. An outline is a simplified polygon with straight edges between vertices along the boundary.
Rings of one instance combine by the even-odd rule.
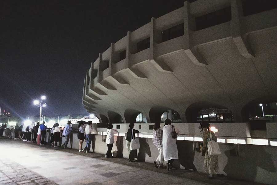
[[[71,122],[68,121],[66,126],[63,128],[59,126],[58,123],[55,123],[50,130],[50,145],[56,147],[58,142],[62,141],[62,137],[65,137],[65,142],[62,147],[67,148],[70,134],[72,133],[72,127],[70,126]],[[208,153],[208,141],[217,141],[215,134],[209,130],[210,124],[207,121],[203,121],[200,124],[200,136],[203,138],[203,143],[201,143],[200,150],[201,154],[204,158],[204,169],[209,173],[209,178],[214,178],[213,175],[218,170],[218,155],[209,155]],[[6,129],[6,125],[2,125],[0,127],[0,136],[3,134],[3,130]],[[6,129],[7,130],[7,129]],[[84,153],[90,153],[90,146],[93,138],[92,134],[92,121],[88,121],[86,126],[84,122],[78,123],[78,134],[77,137],[79,139],[79,152],[83,151]],[[112,124],[108,124],[107,127],[107,136],[106,136],[106,144],[107,144],[107,152],[105,157],[112,158],[112,148],[114,144],[114,134],[118,134],[116,129],[113,129]],[[129,129],[126,133],[126,146],[129,155],[129,162],[138,161],[137,150],[131,150],[131,141],[135,138],[135,134],[139,133],[139,130],[134,129],[134,123],[129,124]],[[164,123],[163,129],[160,128],[160,122],[156,122],[153,130],[153,144],[157,147],[159,155],[157,159],[154,161],[154,165],[156,168],[168,170],[176,169],[174,167],[174,161],[179,159],[178,156],[178,148],[176,143],[176,138],[179,135],[178,128],[171,125],[171,120],[166,119]],[[33,136],[33,138],[31,138]],[[45,144],[45,136],[46,136],[46,126],[43,121],[42,124],[37,122],[31,125],[15,125],[14,128],[14,139],[21,139],[26,142],[37,142],[39,145]],[[86,146],[82,149],[83,142],[86,140]],[[93,151],[94,152],[94,151]],[[167,161],[167,166],[164,166],[164,161]],[[189,169],[192,170],[192,169]]]

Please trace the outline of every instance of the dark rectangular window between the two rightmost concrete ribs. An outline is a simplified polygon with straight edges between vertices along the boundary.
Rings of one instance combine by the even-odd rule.
[[[231,6],[215,12],[195,18],[196,30],[202,30],[211,26],[231,21]]]

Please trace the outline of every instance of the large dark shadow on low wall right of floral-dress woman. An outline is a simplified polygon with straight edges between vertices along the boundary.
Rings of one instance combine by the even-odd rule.
[[[224,152],[228,161],[223,171],[227,176],[255,181],[258,167],[269,172],[276,172],[276,161],[272,160],[276,156],[272,157],[271,154],[268,154],[263,146],[255,146],[255,150],[253,147],[240,146],[239,150],[239,156],[235,149]]]

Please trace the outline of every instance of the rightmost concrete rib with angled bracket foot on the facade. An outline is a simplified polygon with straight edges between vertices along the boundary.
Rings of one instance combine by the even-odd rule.
[[[233,41],[242,56],[245,58],[253,58],[254,54],[251,51],[249,44],[247,43],[247,35],[243,37],[245,33],[242,31],[243,25],[241,23],[241,18],[243,17],[241,0],[231,0],[231,11],[231,36],[233,37]]]

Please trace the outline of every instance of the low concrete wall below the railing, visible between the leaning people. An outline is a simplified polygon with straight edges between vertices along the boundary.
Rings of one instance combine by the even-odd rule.
[[[107,146],[102,141],[101,135],[95,136],[95,152],[106,154]],[[118,151],[119,156],[128,158],[126,140],[124,137],[115,136],[113,150]],[[158,150],[153,145],[151,138],[139,138],[140,149],[138,158],[140,161],[150,162],[156,160]],[[63,138],[64,141],[64,138]],[[73,136],[73,148],[78,149],[79,140],[77,134]],[[203,172],[204,157],[193,150],[193,142],[177,140],[179,161],[175,165],[180,168],[194,168]],[[83,145],[84,147],[84,145]],[[198,142],[196,142],[198,147]],[[219,155],[219,174],[224,174],[236,179],[244,179],[265,184],[277,182],[277,147],[257,145],[236,145],[219,143],[221,153]],[[91,149],[92,151],[92,149]]]

